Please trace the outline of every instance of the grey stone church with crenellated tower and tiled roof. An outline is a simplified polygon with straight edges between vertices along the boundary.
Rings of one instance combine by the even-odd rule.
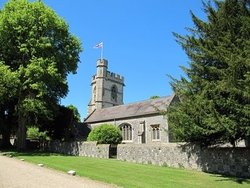
[[[174,100],[174,95],[123,104],[124,78],[108,71],[108,61],[97,61],[92,78],[92,96],[84,123],[91,128],[113,124],[121,129],[123,143],[169,142],[166,115],[161,113]]]

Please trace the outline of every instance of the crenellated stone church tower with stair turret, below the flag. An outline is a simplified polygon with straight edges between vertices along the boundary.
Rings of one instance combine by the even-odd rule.
[[[97,71],[92,77],[92,96],[88,105],[88,114],[95,109],[102,109],[123,104],[124,78],[108,71],[108,61],[97,60]]]

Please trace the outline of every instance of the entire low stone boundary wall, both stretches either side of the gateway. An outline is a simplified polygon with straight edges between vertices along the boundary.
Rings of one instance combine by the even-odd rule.
[[[48,151],[96,158],[110,157],[110,145],[96,142],[51,142]],[[250,178],[250,148],[244,147],[203,149],[174,143],[120,144],[117,146],[117,159]]]

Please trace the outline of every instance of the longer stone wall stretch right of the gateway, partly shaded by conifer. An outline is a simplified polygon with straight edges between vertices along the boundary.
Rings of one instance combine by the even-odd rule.
[[[207,148],[185,144],[120,144],[117,159],[250,177],[250,148]]]

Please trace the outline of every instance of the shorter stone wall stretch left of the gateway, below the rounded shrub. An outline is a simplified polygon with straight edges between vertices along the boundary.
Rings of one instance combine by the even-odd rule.
[[[97,144],[97,142],[59,142],[53,141],[48,144],[50,152],[66,155],[76,155],[96,158],[109,158],[109,144]]]

